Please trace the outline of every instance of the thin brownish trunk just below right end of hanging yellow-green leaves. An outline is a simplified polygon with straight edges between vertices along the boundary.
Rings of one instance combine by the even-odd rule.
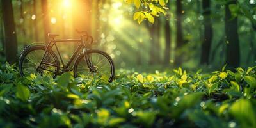
[[[171,28],[170,21],[165,21],[165,51],[164,51],[164,65],[170,63],[170,51],[171,51]]]

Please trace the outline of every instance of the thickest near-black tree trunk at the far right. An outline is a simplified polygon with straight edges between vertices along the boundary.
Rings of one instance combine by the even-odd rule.
[[[226,63],[227,67],[239,67],[240,64],[240,49],[239,49],[239,35],[237,32],[237,17],[231,19],[231,12],[229,10],[230,4],[236,4],[236,0],[229,1],[225,5],[225,33],[226,33]]]

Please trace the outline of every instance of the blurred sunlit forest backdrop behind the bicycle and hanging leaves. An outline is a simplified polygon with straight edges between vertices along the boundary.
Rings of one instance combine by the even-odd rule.
[[[79,29],[93,36],[92,47],[108,52],[116,68],[250,67],[256,63],[255,5],[255,0],[169,0],[166,15],[138,24],[136,7],[123,0],[1,0],[0,61],[15,63],[26,45],[48,42],[47,33],[79,38]],[[77,44],[57,44],[66,61]]]

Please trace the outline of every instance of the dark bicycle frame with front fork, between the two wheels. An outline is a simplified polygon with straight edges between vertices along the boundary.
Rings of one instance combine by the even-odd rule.
[[[72,54],[71,58],[68,60],[67,65],[65,65],[65,63],[63,62],[63,59],[61,58],[60,51],[59,51],[59,49],[58,49],[58,47],[57,47],[57,45],[56,45],[57,42],[80,42],[79,46],[76,48],[76,51],[74,51],[74,53]],[[59,67],[59,68],[61,68],[60,65],[53,65],[53,64],[51,64],[51,63],[45,63],[45,62],[44,62],[44,58],[45,58],[45,56],[46,56],[46,54],[47,54],[48,49],[51,49],[54,45],[55,45],[55,47],[56,47],[56,51],[57,51],[57,53],[58,53],[58,56],[60,57],[60,60],[61,60],[62,65],[63,65],[62,70],[61,70],[61,71],[58,71],[58,72],[55,72],[55,71],[52,71],[52,70],[48,70],[48,69],[42,67],[42,65],[50,65],[50,66],[54,66],[54,67]],[[92,64],[91,64],[91,62],[90,62],[90,60],[89,60],[89,58],[88,58],[88,56],[87,56],[87,52],[86,52],[86,51],[87,51],[87,48],[86,48],[85,42],[84,42],[84,40],[83,40],[82,37],[81,37],[81,39],[63,39],[63,40],[55,40],[54,38],[52,38],[52,40],[50,40],[49,43],[47,44],[47,47],[46,47],[46,49],[45,49],[44,56],[43,56],[43,58],[42,58],[42,60],[41,60],[41,62],[40,62],[40,65],[38,66],[38,68],[36,68],[36,70],[43,69],[43,70],[47,70],[47,71],[49,71],[49,72],[54,72],[55,74],[58,74],[58,75],[59,75],[59,74],[63,74],[64,72],[68,72],[68,71],[70,71],[70,69],[68,69],[68,67],[70,66],[70,64],[72,63],[72,61],[76,58],[77,53],[80,51],[80,49],[81,49],[82,47],[83,47],[84,60],[86,60],[86,63],[87,63],[87,65],[88,65],[88,68],[89,68],[90,70],[93,70],[93,66],[92,66]]]

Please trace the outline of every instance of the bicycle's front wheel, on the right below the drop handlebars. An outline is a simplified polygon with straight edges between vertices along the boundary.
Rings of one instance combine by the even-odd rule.
[[[84,54],[81,53],[74,64],[74,77],[100,79],[111,83],[115,77],[115,66],[111,57],[99,50],[88,50],[87,56],[93,69],[88,67]]]

